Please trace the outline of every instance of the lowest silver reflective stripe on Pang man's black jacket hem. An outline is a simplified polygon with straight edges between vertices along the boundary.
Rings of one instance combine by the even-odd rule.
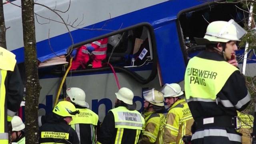
[[[191,140],[204,138],[205,136],[224,136],[224,137],[227,137],[230,141],[242,142],[242,136],[238,134],[230,134],[230,133],[227,133],[226,130],[220,130],[220,129],[209,129],[209,130],[202,130],[202,131],[195,132],[192,135]]]

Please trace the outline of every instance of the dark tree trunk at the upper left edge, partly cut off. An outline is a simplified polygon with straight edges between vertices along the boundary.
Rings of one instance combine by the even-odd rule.
[[[4,24],[4,5],[3,1],[0,0],[0,46],[6,49],[6,39],[5,39],[5,24]]]

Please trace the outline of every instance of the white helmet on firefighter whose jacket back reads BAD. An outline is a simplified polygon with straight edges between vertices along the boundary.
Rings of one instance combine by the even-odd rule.
[[[164,97],[178,97],[182,96],[182,92],[179,84],[165,84],[160,92],[164,93]]]

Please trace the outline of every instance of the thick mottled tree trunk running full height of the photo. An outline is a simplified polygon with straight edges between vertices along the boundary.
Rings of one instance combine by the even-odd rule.
[[[38,144],[38,99],[41,87],[38,79],[34,0],[21,2],[26,70],[26,144]]]

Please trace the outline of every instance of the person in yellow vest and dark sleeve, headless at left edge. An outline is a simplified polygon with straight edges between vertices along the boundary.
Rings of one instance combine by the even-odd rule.
[[[0,144],[8,144],[8,123],[20,108],[23,84],[15,55],[0,47]]]

